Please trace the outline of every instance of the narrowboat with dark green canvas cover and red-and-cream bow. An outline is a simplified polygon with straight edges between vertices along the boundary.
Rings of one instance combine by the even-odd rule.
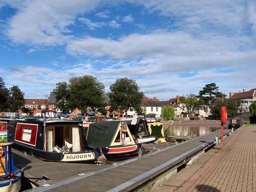
[[[89,146],[100,147],[107,160],[125,160],[145,153],[135,143],[125,121],[100,121],[84,126]]]

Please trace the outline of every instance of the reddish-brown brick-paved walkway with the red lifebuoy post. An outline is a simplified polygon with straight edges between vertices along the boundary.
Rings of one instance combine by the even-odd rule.
[[[254,182],[253,182],[254,180]],[[155,191],[255,192],[256,125],[244,125]]]

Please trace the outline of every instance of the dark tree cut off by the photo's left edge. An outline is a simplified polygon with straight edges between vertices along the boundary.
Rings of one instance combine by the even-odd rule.
[[[3,81],[3,78],[0,77],[0,111],[6,112],[9,111],[9,90],[5,86],[5,82]]]

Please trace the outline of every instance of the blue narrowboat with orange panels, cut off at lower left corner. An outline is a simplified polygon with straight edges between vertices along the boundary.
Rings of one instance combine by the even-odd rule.
[[[0,191],[18,192],[21,172],[14,166],[9,131],[0,129]]]

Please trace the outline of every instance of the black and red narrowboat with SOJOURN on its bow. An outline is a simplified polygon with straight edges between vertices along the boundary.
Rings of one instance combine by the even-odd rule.
[[[55,111],[54,111],[55,112]],[[10,132],[13,148],[52,162],[95,163],[104,160],[100,148],[90,147],[82,121],[48,119],[0,119],[0,127]]]

